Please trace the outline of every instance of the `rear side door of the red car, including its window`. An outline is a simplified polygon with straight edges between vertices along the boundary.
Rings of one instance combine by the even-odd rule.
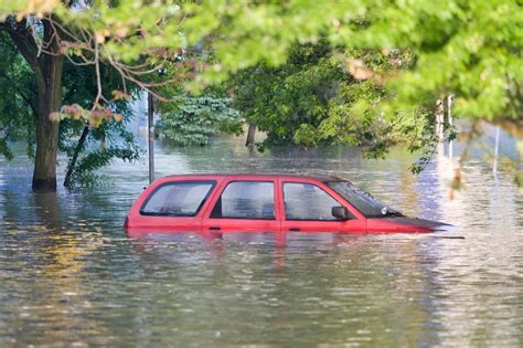
[[[279,231],[276,191],[274,179],[227,178],[204,213],[202,231]]]

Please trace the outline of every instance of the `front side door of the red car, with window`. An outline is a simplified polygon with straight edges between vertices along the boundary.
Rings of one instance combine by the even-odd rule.
[[[287,232],[364,232],[365,220],[341,197],[321,182],[281,179],[281,231]],[[349,220],[332,215],[333,207],[345,207]]]

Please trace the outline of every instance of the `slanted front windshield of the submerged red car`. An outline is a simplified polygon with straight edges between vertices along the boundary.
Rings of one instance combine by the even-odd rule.
[[[398,211],[380,202],[377,199],[365,192],[359,187],[353,186],[348,181],[331,181],[325,182],[328,187],[333,189],[338,194],[343,197],[349,203],[354,205],[366,218],[382,218],[382,217],[401,217]]]

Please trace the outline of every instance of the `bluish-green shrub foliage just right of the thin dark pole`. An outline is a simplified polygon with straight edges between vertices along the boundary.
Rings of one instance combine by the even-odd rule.
[[[158,133],[179,145],[205,145],[218,133],[242,134],[239,113],[226,98],[185,97],[180,104],[160,103],[159,113]]]

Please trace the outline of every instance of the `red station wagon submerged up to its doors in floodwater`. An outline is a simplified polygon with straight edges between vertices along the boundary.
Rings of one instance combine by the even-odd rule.
[[[337,177],[186,175],[158,179],[136,200],[126,230],[173,232],[435,232]]]

